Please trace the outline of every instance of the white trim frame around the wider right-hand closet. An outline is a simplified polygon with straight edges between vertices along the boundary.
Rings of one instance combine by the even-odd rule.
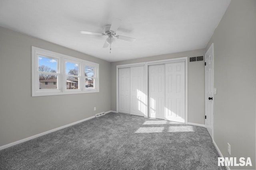
[[[188,57],[146,62],[146,116],[148,117],[148,66],[167,63],[185,62],[185,123],[188,123]]]

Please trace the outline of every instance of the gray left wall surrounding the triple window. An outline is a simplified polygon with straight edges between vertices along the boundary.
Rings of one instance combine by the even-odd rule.
[[[110,111],[109,62],[3,27],[0,37],[0,146]],[[31,46],[99,63],[100,92],[32,97]]]

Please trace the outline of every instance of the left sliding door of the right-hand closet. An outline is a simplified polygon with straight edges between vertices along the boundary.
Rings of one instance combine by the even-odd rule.
[[[164,64],[148,66],[148,115],[164,119],[165,106]]]

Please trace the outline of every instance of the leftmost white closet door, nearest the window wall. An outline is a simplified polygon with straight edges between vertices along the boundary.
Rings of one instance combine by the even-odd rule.
[[[130,68],[119,68],[119,112],[130,114]]]

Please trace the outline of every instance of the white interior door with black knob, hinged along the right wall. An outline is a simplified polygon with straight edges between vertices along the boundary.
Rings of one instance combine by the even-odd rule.
[[[213,138],[213,44],[205,54],[205,127]]]

